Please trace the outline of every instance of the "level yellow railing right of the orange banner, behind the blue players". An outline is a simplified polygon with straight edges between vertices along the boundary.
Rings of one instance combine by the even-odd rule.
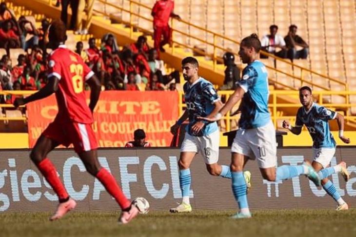
[[[229,97],[233,94],[234,91],[218,91],[218,95],[221,97],[225,97],[226,100],[229,99]],[[273,120],[273,123],[275,127],[277,128],[277,120],[279,119],[290,119],[294,120],[296,118],[295,115],[293,116],[283,116],[280,115],[280,111],[282,108],[299,108],[301,107],[300,103],[278,103],[277,102],[277,96],[294,96],[298,97],[298,91],[286,91],[286,90],[272,90],[270,91],[270,103],[268,104],[268,108],[270,109],[271,112],[271,119]],[[183,114],[184,109],[186,108],[186,105],[183,103],[183,93],[179,92],[179,116]],[[337,108],[338,110],[346,110],[349,111],[352,107],[356,107],[356,103],[350,103],[349,102],[349,97],[350,96],[355,96],[356,97],[356,91],[314,91],[313,92],[314,99],[317,99],[318,104],[325,106],[327,108]],[[325,96],[340,96],[340,97],[346,97],[345,103],[325,103],[323,102],[323,99],[325,99]],[[356,100],[355,100],[356,101]],[[232,111],[235,112],[235,111]],[[228,112],[222,120],[224,120],[224,123],[226,125],[226,131],[230,131],[231,129],[231,122],[233,119],[239,119],[239,115],[231,115],[231,112]],[[351,116],[350,113],[347,113],[344,116],[345,120],[353,121],[356,122],[356,116]],[[280,125],[280,124],[279,124]]]

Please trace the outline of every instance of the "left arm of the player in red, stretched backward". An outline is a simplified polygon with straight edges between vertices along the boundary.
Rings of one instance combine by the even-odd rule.
[[[31,96],[26,98],[16,98],[14,101],[15,108],[19,107],[20,105],[24,105],[29,102],[43,99],[52,95],[54,92],[58,90],[58,83],[59,83],[59,79],[57,77],[55,76],[50,77],[48,79],[48,83],[35,94],[32,94]]]

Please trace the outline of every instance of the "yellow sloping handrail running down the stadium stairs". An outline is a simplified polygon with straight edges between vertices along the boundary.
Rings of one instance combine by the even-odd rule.
[[[121,20],[121,21],[123,21],[123,22],[125,22],[125,23],[128,23],[128,24],[130,25],[130,37],[132,37],[132,35],[133,35],[134,27],[135,27],[135,28],[138,28],[138,29],[140,29],[140,30],[143,30],[143,31],[145,31],[145,32],[152,32],[152,28],[151,28],[151,29],[144,29],[144,28],[142,28],[142,27],[139,27],[138,25],[135,25],[135,24],[133,23],[133,21],[132,21],[132,16],[135,16],[135,17],[138,17],[138,18],[140,18],[140,19],[147,20],[147,21],[150,21],[150,22],[153,21],[152,18],[147,18],[147,17],[145,17],[145,16],[142,16],[142,15],[140,15],[140,14],[135,13],[135,12],[133,11],[133,5],[136,5],[136,6],[139,6],[139,7],[145,8],[145,9],[148,9],[148,10],[151,10],[152,7],[147,6],[147,5],[144,5],[144,4],[142,4],[142,3],[140,3],[140,2],[138,2],[138,1],[136,1],[136,0],[126,0],[126,1],[129,2],[129,4],[123,4],[123,6],[129,5],[129,9],[125,9],[123,6],[114,5],[114,4],[112,4],[112,3],[107,2],[106,0],[97,0],[97,1],[99,1],[100,3],[103,3],[103,4],[105,4],[105,5],[108,5],[108,6],[111,6],[111,7],[116,8],[116,9],[119,9],[120,11],[124,11],[124,12],[130,14],[130,21],[129,21],[129,22],[126,22],[126,21],[123,21],[123,20],[119,19],[118,17],[115,17],[115,16],[112,16],[112,15],[107,14],[106,12],[102,12],[102,11],[99,11],[99,10],[97,10],[97,9],[94,10],[95,12],[98,12],[98,13],[100,13],[100,14],[102,14],[102,15],[106,15],[106,16],[109,16],[109,17],[114,18],[114,19],[116,19],[116,20]],[[213,36],[213,37],[212,37],[213,42],[209,42],[208,40],[201,39],[201,38],[199,38],[199,37],[193,36],[192,34],[185,33],[185,32],[183,32],[183,31],[181,31],[181,30],[176,29],[176,27],[174,27],[174,26],[176,25],[176,24],[175,24],[175,21],[179,21],[180,23],[183,23],[183,24],[185,24],[185,25],[187,25],[187,26],[189,26],[189,27],[194,27],[195,29],[201,30],[201,31],[203,31],[205,34],[211,34],[211,35]],[[171,26],[172,26],[172,31],[173,31],[173,32],[178,33],[178,34],[181,34],[181,35],[183,35],[183,36],[188,36],[188,37],[190,37],[191,39],[198,40],[198,41],[204,43],[205,45],[209,45],[209,46],[212,46],[212,47],[214,48],[214,49],[213,49],[213,53],[201,52],[201,51],[199,51],[198,49],[195,49],[193,46],[190,46],[190,45],[188,45],[188,44],[186,44],[186,43],[182,43],[182,42],[176,41],[176,40],[174,39],[174,37],[173,37],[173,39],[172,39],[172,43],[173,43],[172,54],[174,54],[174,52],[175,52],[175,50],[174,50],[174,45],[180,45],[180,46],[184,46],[184,47],[193,49],[193,50],[195,50],[195,51],[198,51],[200,54],[203,54],[203,55],[205,55],[205,56],[209,56],[209,57],[212,58],[214,71],[217,70],[217,67],[216,67],[217,61],[218,61],[218,60],[221,60],[221,59],[217,56],[217,51],[216,51],[216,50],[217,50],[217,49],[220,49],[220,50],[223,50],[223,51],[228,51],[228,49],[226,49],[226,48],[224,48],[224,47],[221,47],[220,45],[217,44],[218,38],[221,39],[221,40],[230,41],[230,42],[232,42],[232,43],[234,43],[234,44],[237,44],[237,45],[240,44],[240,42],[237,41],[237,40],[233,40],[233,39],[231,39],[231,38],[229,38],[229,37],[226,37],[226,36],[224,36],[224,35],[221,35],[221,34],[218,34],[218,33],[216,33],[216,32],[213,32],[213,31],[208,30],[208,29],[206,29],[206,28],[204,28],[204,27],[201,27],[201,26],[192,24],[192,23],[190,23],[190,22],[188,22],[188,21],[186,21],[186,20],[176,20],[176,19],[173,19],[173,18],[172,18],[172,20],[171,20]],[[173,36],[174,36],[174,35],[173,35]],[[235,54],[235,55],[237,55],[237,53],[234,53],[234,52],[232,52],[232,53]],[[303,66],[294,64],[294,63],[292,63],[292,62],[289,61],[289,60],[279,58],[279,57],[277,57],[277,56],[275,56],[275,55],[273,55],[273,54],[270,54],[270,53],[267,53],[267,52],[264,52],[264,51],[261,51],[260,53],[261,53],[262,55],[265,55],[265,56],[271,57],[271,58],[273,58],[273,59],[276,59],[278,62],[287,63],[287,64],[293,66],[293,68],[299,69],[299,70],[300,70],[300,76],[295,76],[295,75],[293,75],[293,74],[291,74],[291,73],[289,73],[289,72],[285,72],[285,71],[279,70],[279,69],[274,68],[274,67],[266,66],[267,68],[269,68],[269,69],[271,69],[271,70],[274,70],[274,71],[276,71],[277,73],[281,73],[281,74],[284,74],[284,75],[286,75],[286,76],[288,76],[288,77],[290,77],[290,78],[299,80],[299,81],[301,82],[301,84],[304,82],[304,83],[310,84],[310,85],[312,85],[312,86],[314,86],[314,87],[317,87],[317,88],[320,88],[320,89],[323,89],[323,90],[331,90],[331,88],[329,88],[329,87],[325,87],[325,86],[322,86],[322,85],[320,85],[320,84],[316,84],[316,83],[314,83],[314,82],[312,82],[312,81],[305,80],[303,77],[304,77],[304,75],[305,75],[305,72],[307,72],[307,73],[310,73],[310,74],[312,74],[312,75],[314,75],[314,76],[318,76],[318,77],[321,77],[321,78],[324,78],[324,79],[328,79],[329,81],[336,82],[337,84],[340,84],[340,85],[344,86],[345,90],[348,89],[347,83],[344,82],[344,81],[341,81],[341,80],[338,80],[338,79],[334,79],[334,78],[331,78],[331,77],[329,77],[329,76],[327,76],[327,75],[324,75],[324,74],[321,74],[321,73],[312,71],[312,70],[310,70],[310,69],[308,69],[308,68],[305,68],[305,67],[303,67]],[[283,85],[282,83],[277,83],[277,84]],[[329,84],[330,84],[330,83],[329,83]],[[286,86],[286,87],[287,87],[287,88],[291,88],[291,86]],[[294,88],[294,87],[292,87],[292,88]]]

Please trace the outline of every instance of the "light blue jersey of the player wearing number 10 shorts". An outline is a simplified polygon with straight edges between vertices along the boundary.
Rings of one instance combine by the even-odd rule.
[[[243,129],[258,128],[271,120],[268,111],[268,74],[262,62],[255,60],[242,71],[237,83],[244,91],[241,101],[241,118],[238,125]]]

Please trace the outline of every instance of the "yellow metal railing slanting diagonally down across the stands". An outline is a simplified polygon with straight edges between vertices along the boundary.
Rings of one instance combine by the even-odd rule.
[[[138,19],[146,20],[146,21],[149,21],[149,22],[152,23],[153,20],[152,20],[151,16],[146,17],[146,16],[143,16],[140,13],[135,12],[135,10],[138,10],[140,8],[148,10],[148,11],[151,11],[152,6],[144,5],[144,4],[142,4],[140,2],[137,2],[135,0],[123,0],[122,6],[118,6],[118,5],[115,5],[113,3],[107,2],[107,0],[97,0],[97,1],[99,1],[102,4],[104,4],[105,6],[109,6],[109,7],[115,8],[116,10],[118,10],[118,13],[121,13],[121,15],[123,13],[129,14],[129,20],[123,20],[122,17],[120,18],[120,17],[117,17],[117,16],[115,16],[113,14],[109,14],[106,11],[100,11],[98,9],[94,9],[94,12],[96,12],[96,13],[99,13],[99,14],[104,15],[104,16],[108,16],[113,20],[118,20],[119,22],[123,22],[125,24],[128,24],[130,26],[130,37],[131,38],[133,37],[133,33],[134,33],[135,29],[138,29],[138,30],[143,31],[143,32],[149,32],[149,33],[153,32],[152,27],[144,28],[144,27],[141,27],[136,22],[134,22],[135,21],[134,18],[138,18]],[[182,30],[179,30],[176,27],[176,24],[183,24],[184,27],[187,27],[187,28],[190,29],[190,32],[202,31],[206,35],[206,38],[211,38],[213,40],[205,40],[205,39],[202,39],[201,36],[195,36],[192,33],[183,32]],[[226,37],[224,35],[221,35],[221,34],[218,34],[216,32],[210,31],[210,30],[208,30],[208,29],[206,29],[204,27],[192,24],[192,23],[190,23],[190,22],[188,22],[186,20],[176,20],[176,19],[172,18],[171,19],[171,28],[172,28],[173,33],[180,34],[181,36],[184,37],[184,39],[198,40],[199,42],[203,43],[207,47],[210,46],[210,47],[213,48],[213,52],[212,53],[205,52],[205,51],[203,51],[201,49],[198,49],[198,48],[196,48],[196,47],[194,47],[192,45],[189,45],[189,44],[187,44],[185,42],[181,42],[181,41],[179,42],[178,40],[175,39],[175,34],[172,34],[173,39],[172,39],[171,53],[173,55],[175,54],[175,47],[176,46],[183,46],[185,48],[189,48],[189,49],[191,49],[191,50],[193,50],[193,51],[195,51],[195,52],[197,52],[199,54],[202,54],[202,55],[210,57],[213,60],[213,69],[214,69],[214,71],[217,71],[217,63],[218,63],[219,60],[221,61],[221,58],[219,58],[218,55],[217,55],[217,50],[221,50],[221,51],[224,51],[224,52],[225,51],[231,51],[228,48],[224,48],[224,47],[220,46],[221,43],[219,44],[218,42],[227,41],[230,44],[233,44],[235,46],[239,46],[239,44],[240,44],[240,42],[237,41],[237,40],[234,40],[234,39],[231,39],[231,38]],[[253,33],[253,32],[251,32],[251,33]],[[208,35],[211,36],[211,37],[208,37]],[[236,52],[232,52],[232,53],[237,56]],[[287,76],[288,78],[298,80],[300,82],[300,85],[309,84],[309,85],[311,85],[311,86],[313,86],[315,88],[319,88],[319,89],[322,89],[322,90],[331,90],[331,85],[330,84],[331,84],[331,82],[334,82],[334,83],[336,83],[338,85],[343,86],[343,88],[345,90],[348,90],[348,85],[344,81],[341,81],[341,80],[338,80],[338,79],[334,79],[334,78],[331,78],[331,77],[329,77],[327,75],[312,71],[312,70],[310,70],[310,69],[308,69],[306,67],[294,64],[289,60],[279,58],[279,57],[277,57],[277,56],[275,56],[273,54],[269,54],[269,53],[264,52],[264,51],[261,51],[260,53],[265,55],[265,56],[268,56],[270,58],[273,58],[273,59],[277,60],[278,63],[285,63],[285,64],[288,64],[289,66],[291,66],[293,68],[293,72],[291,72],[291,71],[283,71],[283,70],[280,70],[278,68],[266,65],[266,67],[268,69],[271,69],[271,70],[275,71],[276,73],[283,74],[283,75]],[[298,71],[300,73],[300,75],[295,75],[294,71]],[[310,79],[305,79],[305,75],[306,74],[310,74],[312,76],[319,77],[319,78],[324,78],[326,81],[328,81],[328,83],[327,83],[328,86],[320,85],[319,83],[315,83]],[[293,87],[291,85],[282,83],[282,82],[277,81],[277,80],[271,80],[271,81],[274,82],[277,85],[286,87],[288,89],[295,89],[295,86]]]

